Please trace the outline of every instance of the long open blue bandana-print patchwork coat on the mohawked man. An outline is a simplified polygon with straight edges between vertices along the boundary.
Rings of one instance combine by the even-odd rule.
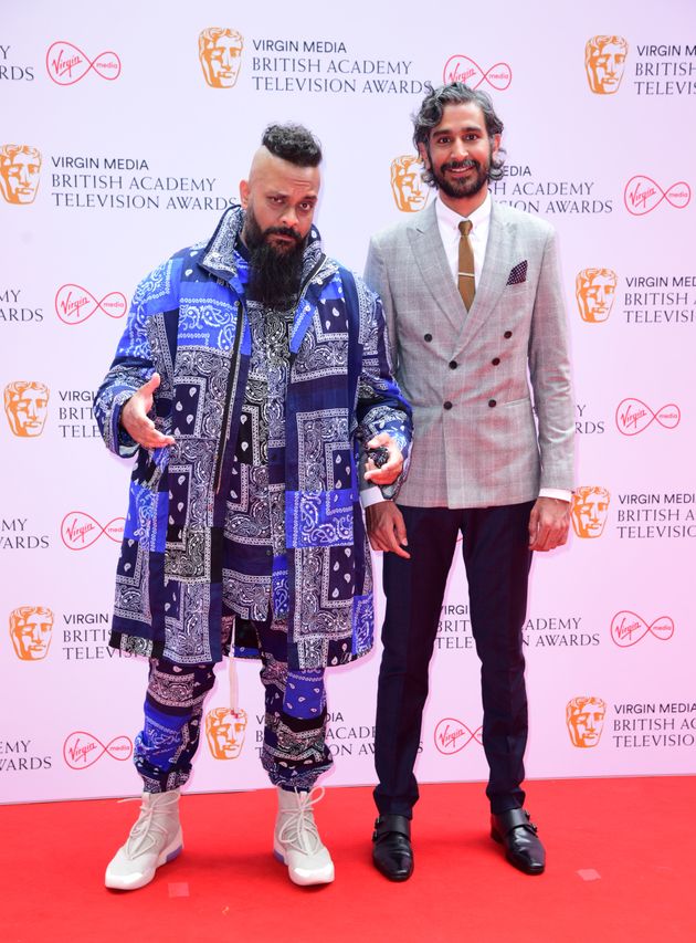
[[[242,209],[230,208],[208,245],[178,252],[140,283],[95,398],[106,446],[136,454],[110,643],[179,664],[219,661],[232,621],[222,600],[224,520],[251,355],[234,252],[242,224]],[[360,448],[387,431],[408,455],[411,440],[387,349],[379,298],[321,253],[313,229],[286,400],[291,669],[346,663],[372,646]],[[119,418],[154,371],[155,421],[176,446],[148,451]],[[256,654],[241,625],[234,643],[238,654]]]

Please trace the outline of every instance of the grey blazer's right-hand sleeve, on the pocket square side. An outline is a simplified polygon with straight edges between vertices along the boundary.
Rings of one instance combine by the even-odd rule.
[[[540,488],[572,491],[574,405],[558,243],[552,230],[544,250],[531,318],[529,376],[538,418]]]

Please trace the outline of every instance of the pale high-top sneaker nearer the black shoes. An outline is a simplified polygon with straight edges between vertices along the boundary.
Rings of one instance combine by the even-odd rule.
[[[287,865],[295,884],[329,884],[334,880],[334,862],[321,844],[313,810],[324,796],[324,787],[288,793],[278,786],[277,793],[273,853]]]

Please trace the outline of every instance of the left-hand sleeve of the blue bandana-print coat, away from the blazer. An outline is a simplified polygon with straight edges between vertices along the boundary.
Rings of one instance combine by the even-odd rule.
[[[94,398],[94,417],[102,438],[107,449],[122,459],[130,458],[138,450],[138,443],[120,426],[120,413],[134,392],[155,373],[148,321],[158,286],[170,281],[170,269],[171,260],[138,285],[116,356]]]

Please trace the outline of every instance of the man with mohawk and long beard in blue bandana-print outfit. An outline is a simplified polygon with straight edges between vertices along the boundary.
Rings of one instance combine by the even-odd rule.
[[[137,457],[110,643],[149,659],[143,804],[109,888],[181,850],[179,790],[232,653],[262,660],[274,853],[295,883],[334,880],[313,815],[331,764],[324,674],[371,647],[360,481],[394,493],[411,420],[381,303],[323,252],[320,160],[306,128],[266,129],[241,206],[140,283],[96,395],[107,447]]]

